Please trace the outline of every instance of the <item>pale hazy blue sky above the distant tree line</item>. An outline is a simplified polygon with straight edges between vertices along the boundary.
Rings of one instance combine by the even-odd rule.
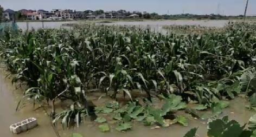
[[[159,14],[225,14],[240,15],[246,0],[0,0],[4,9],[125,9]],[[218,8],[219,5],[219,8]],[[219,9],[219,10],[218,10]],[[249,0],[248,15],[256,15],[256,0]]]

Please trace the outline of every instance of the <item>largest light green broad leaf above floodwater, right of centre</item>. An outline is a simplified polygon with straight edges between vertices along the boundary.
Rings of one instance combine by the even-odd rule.
[[[166,115],[168,112],[174,112],[179,109],[183,109],[187,107],[184,102],[181,102],[181,96],[169,95],[169,99],[165,100],[165,104],[162,107],[163,113],[162,115]]]

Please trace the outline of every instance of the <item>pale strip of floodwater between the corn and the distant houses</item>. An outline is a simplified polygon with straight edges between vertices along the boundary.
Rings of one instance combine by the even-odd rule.
[[[228,22],[240,20],[165,20],[165,21],[118,21],[111,23],[98,23],[106,25],[129,25],[139,27],[150,27],[155,31],[161,31],[164,25],[201,25],[204,27],[224,27]],[[65,21],[65,22],[17,22],[18,28],[22,30],[40,29],[40,28],[62,28],[62,24],[84,24],[97,21]],[[66,27],[70,28],[70,27]]]

